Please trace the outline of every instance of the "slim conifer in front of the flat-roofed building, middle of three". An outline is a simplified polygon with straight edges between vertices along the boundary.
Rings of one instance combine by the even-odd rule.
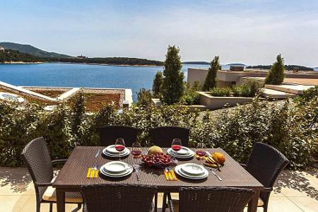
[[[216,56],[210,63],[210,68],[208,68],[208,75],[206,76],[206,80],[204,81],[203,90],[208,91],[212,88],[216,88],[218,83],[218,79],[216,78],[216,74],[220,70],[220,57]]]

